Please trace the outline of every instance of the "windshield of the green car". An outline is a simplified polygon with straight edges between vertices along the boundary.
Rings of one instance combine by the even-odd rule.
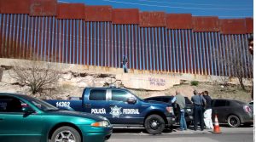
[[[39,110],[42,111],[58,111],[59,109],[53,105],[49,105],[40,99],[35,99],[29,96],[23,96],[26,100],[30,101],[33,105],[37,106]]]

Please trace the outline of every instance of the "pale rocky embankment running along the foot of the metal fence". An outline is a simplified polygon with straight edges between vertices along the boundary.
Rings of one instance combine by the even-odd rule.
[[[20,93],[32,95],[30,88],[11,77],[13,74],[13,63],[19,63],[23,67],[31,65],[27,60],[0,59],[2,76],[0,74],[0,92]],[[44,62],[40,66],[44,66]],[[122,72],[122,69],[108,69],[86,67],[81,65],[55,65],[59,69],[60,78],[55,84],[44,88],[44,91],[33,94],[40,99],[67,99],[70,96],[81,96],[86,87],[104,87],[115,84],[118,87],[130,89],[141,98],[156,95],[174,95],[178,89],[183,95],[191,98],[193,90],[198,92],[207,90],[212,98],[239,99],[245,102],[251,101],[251,89],[247,80],[247,91],[242,91],[231,79],[229,85],[224,87],[218,82],[218,77],[195,76],[189,74],[161,74],[151,72],[134,73]],[[1,69],[1,68],[0,68]],[[0,72],[1,73],[1,72]],[[190,82],[199,81],[198,86],[191,86]],[[235,81],[235,82],[234,82]],[[249,83],[248,83],[249,82]]]

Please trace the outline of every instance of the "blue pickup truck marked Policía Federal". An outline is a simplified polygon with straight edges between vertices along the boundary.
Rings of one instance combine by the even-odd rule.
[[[140,99],[125,88],[84,88],[79,99],[45,100],[61,109],[105,116],[113,127],[144,127],[160,134],[175,122],[172,105]]]

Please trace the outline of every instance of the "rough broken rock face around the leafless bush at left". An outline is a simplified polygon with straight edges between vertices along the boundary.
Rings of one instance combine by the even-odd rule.
[[[17,82],[11,75],[12,66],[1,65],[0,68],[0,92],[32,94],[30,88]],[[35,94],[42,99],[67,99],[69,96],[79,96],[86,87],[105,87],[114,84],[122,87],[122,82],[116,79],[116,75],[89,73],[89,72],[60,72],[61,76],[55,84],[44,88],[44,91]]]

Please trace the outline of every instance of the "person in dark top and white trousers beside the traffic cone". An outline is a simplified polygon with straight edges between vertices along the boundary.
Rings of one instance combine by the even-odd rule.
[[[212,129],[212,98],[209,96],[208,91],[203,92],[203,97],[206,99],[206,111],[204,112],[204,122],[207,129]]]

